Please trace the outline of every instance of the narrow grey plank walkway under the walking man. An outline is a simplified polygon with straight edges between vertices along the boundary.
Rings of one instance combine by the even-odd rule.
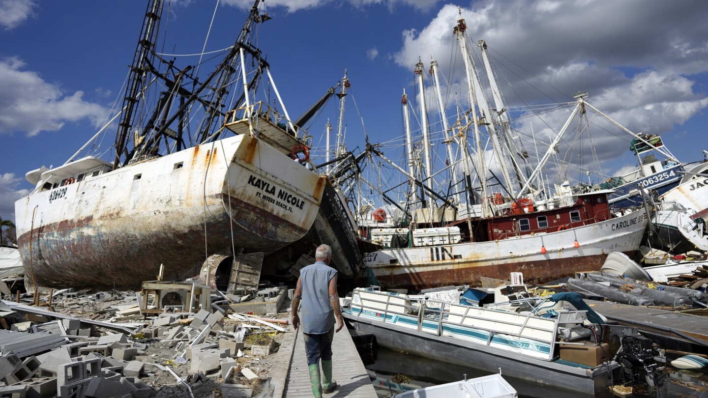
[[[283,396],[312,397],[304,341],[299,329],[294,343]],[[337,389],[331,394],[324,394],[323,397],[376,397],[374,386],[346,328],[334,334],[332,353],[332,378],[337,382]]]

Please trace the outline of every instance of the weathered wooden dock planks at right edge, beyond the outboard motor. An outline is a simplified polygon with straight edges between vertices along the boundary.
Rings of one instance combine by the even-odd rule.
[[[595,300],[586,300],[586,302],[607,319],[612,319],[620,324],[637,326],[640,329],[649,329],[664,335],[674,334],[672,331],[666,330],[673,329],[708,343],[708,322],[705,317],[616,302]]]

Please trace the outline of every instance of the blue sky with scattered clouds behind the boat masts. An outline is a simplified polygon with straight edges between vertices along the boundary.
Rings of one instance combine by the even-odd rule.
[[[169,53],[229,47],[252,4],[172,1],[161,25],[173,40]],[[137,0],[0,0],[0,217],[13,220],[14,202],[33,188],[25,173],[63,164],[122,103],[146,6]],[[465,88],[452,34],[460,13],[469,42],[489,45],[510,110],[567,103],[587,91],[588,102],[629,130],[661,135],[683,162],[702,159],[708,149],[708,7],[700,0],[266,0],[264,11],[273,19],[258,25],[256,45],[267,54],[291,117],[346,70],[350,149],[362,149],[367,137],[388,142],[384,153],[395,153],[392,146],[404,135],[401,94],[419,103],[418,59],[427,72],[435,57],[445,76],[446,112],[455,112],[453,98],[464,98]],[[433,114],[435,96],[426,91]],[[336,126],[337,106],[331,101],[309,126],[319,149],[327,119]],[[557,108],[518,127],[526,137],[533,128],[547,143],[568,113]],[[112,159],[115,128],[91,147],[93,154]],[[607,175],[636,165],[627,137],[586,143]]]

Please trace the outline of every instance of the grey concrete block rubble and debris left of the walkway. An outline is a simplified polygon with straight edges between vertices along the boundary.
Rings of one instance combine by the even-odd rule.
[[[285,288],[226,295],[196,283],[196,292],[177,283],[153,281],[149,291],[146,285],[142,292],[4,295],[0,397],[273,392],[269,370],[279,362],[273,351],[292,332]]]

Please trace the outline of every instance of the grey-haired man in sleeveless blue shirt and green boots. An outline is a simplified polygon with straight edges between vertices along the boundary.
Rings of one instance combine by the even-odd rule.
[[[297,308],[302,301],[302,336],[307,353],[310,384],[314,396],[321,398],[323,391],[329,394],[337,388],[337,383],[332,380],[332,339],[334,333],[342,329],[344,321],[337,294],[337,271],[329,266],[332,249],[321,244],[315,251],[315,259],[316,263],[300,270],[297,287],[292,295],[292,327],[297,329],[301,324]]]

